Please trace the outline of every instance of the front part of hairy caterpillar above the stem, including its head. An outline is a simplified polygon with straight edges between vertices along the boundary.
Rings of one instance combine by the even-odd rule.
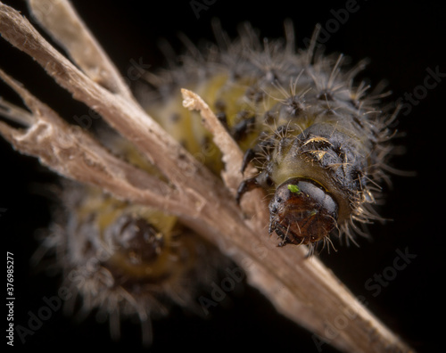
[[[281,238],[280,246],[306,244],[311,251],[331,243],[335,232],[354,242],[354,232],[362,233],[357,223],[380,219],[372,206],[386,178],[396,115],[377,105],[386,94],[367,94],[365,82],[355,83],[364,62],[344,70],[343,55],[319,53],[318,29],[310,47],[297,52],[290,41],[262,42],[249,25],[235,42],[216,33],[219,45],[209,53],[190,47],[193,55],[178,69],[147,75],[163,93],[147,110],[194,153],[209,136],[196,113],[182,109],[179,87],[209,103],[244,151],[241,170],[251,161],[259,169],[240,185],[237,201],[258,187],[273,195],[269,234]],[[204,162],[219,172],[218,158]]]

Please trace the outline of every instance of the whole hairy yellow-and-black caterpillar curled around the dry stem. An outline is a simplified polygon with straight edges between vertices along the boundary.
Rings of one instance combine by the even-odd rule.
[[[220,29],[216,35],[218,45],[207,52],[189,44],[180,65],[146,73],[148,87],[139,95],[153,119],[192,154],[207,151],[202,162],[219,174],[220,153],[198,113],[182,106],[179,88],[202,96],[244,151],[242,171],[250,162],[259,170],[240,185],[237,201],[254,188],[266,191],[269,233],[280,246],[305,244],[311,253],[318,243],[330,244],[331,235],[353,239],[353,230],[361,232],[357,224],[379,219],[372,206],[386,178],[394,115],[376,105],[384,94],[368,95],[365,83],[354,82],[363,64],[343,70],[343,55],[318,53],[316,36],[296,51],[290,26],[285,43],[262,41],[248,25],[235,41]],[[156,173],[120,137],[101,138],[112,152]],[[200,288],[227,264],[160,211],[71,184],[62,203],[66,210],[44,248],[55,251],[82,308],[109,316],[115,336],[120,316],[137,316],[149,342],[150,318],[171,304],[194,308]]]

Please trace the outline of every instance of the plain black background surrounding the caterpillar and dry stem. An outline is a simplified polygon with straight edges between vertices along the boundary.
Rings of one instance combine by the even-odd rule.
[[[21,2],[7,1],[28,15]],[[16,3],[16,4],[14,4]],[[298,44],[310,37],[316,23],[326,26],[333,20],[332,10],[345,8],[345,2],[274,1],[270,4],[217,0],[197,19],[189,1],[183,2],[90,1],[76,2],[81,18],[93,31],[123,76],[130,61],[142,60],[154,67],[162,64],[157,41],[162,37],[180,48],[177,33],[183,32],[195,43],[212,40],[211,19],[219,18],[231,36],[242,21],[250,21],[266,37],[282,37],[285,18],[293,20]],[[389,81],[394,100],[423,86],[426,69],[437,66],[446,72],[444,5],[434,1],[383,2],[358,1],[359,11],[333,31],[326,41],[326,52],[345,53],[353,62],[368,57],[371,62],[364,76],[376,84]],[[88,109],[71,100],[70,94],[45,76],[25,54],[0,40],[0,67],[25,83],[33,94],[51,105],[63,117],[86,114]],[[417,176],[392,177],[381,214],[392,221],[370,227],[373,240],[360,240],[360,247],[341,247],[337,252],[321,254],[355,295],[364,296],[368,308],[392,330],[420,352],[442,350],[444,324],[444,119],[445,78],[428,90],[409,114],[401,115],[399,130],[405,133],[400,143],[406,153],[393,160],[397,168],[417,172]],[[0,94],[20,103],[0,84]],[[35,231],[45,228],[50,210],[40,185],[54,176],[37,160],[22,156],[0,139],[0,234],[5,249],[14,254],[14,321],[26,325],[29,310],[36,312],[43,297],[55,295],[57,277],[36,274],[29,258],[36,248]],[[379,295],[368,291],[365,283],[374,275],[392,267],[397,249],[416,254],[405,269],[382,288]],[[110,340],[108,325],[96,324],[93,317],[76,324],[57,311],[45,321],[25,345],[18,337],[14,349],[141,349],[139,327],[124,323],[122,339]],[[151,351],[195,349],[227,351],[250,348],[316,352],[311,334],[275,313],[260,294],[246,288],[244,295],[233,295],[225,307],[212,310],[206,320],[174,311],[166,320],[154,322],[155,343]],[[327,345],[325,352],[335,349]]]

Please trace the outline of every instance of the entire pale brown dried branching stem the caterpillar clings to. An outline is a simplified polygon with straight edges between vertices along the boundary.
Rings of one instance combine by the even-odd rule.
[[[35,12],[41,10],[40,6],[47,5],[46,2],[34,1],[32,4]],[[346,352],[410,350],[369,313],[317,258],[306,259],[303,247],[278,248],[276,242],[268,237],[268,214],[264,208],[252,220],[244,219],[234,197],[221,181],[167,135],[136,104],[135,99],[128,96],[127,90],[120,87],[119,79],[116,80],[116,70],[106,63],[106,56],[96,55],[103,53],[102,50],[78,53],[84,44],[99,46],[91,40],[87,29],[81,30],[83,34],[80,37],[66,36],[63,34],[66,27],[61,28],[57,23],[54,24],[56,21],[66,21],[76,27],[85,27],[75,12],[70,11],[70,4],[57,1],[52,5],[62,6],[59,10],[54,9],[61,17],[54,21],[45,20],[43,25],[48,26],[48,30],[61,43],[73,41],[73,45],[65,44],[65,48],[84,72],[49,45],[19,12],[1,3],[0,33],[12,45],[39,62],[75,99],[100,113],[120,135],[135,144],[161,170],[174,188],[168,188],[150,176],[139,175],[133,169],[129,173],[131,167],[127,163],[105,154],[102,147],[87,134],[62,124],[62,120],[54,116],[54,111],[4,76],[32,111],[32,118],[22,118],[31,122],[25,131],[12,129],[4,123],[0,125],[0,133],[8,141],[19,151],[39,157],[45,165],[62,175],[108,187],[111,193],[120,198],[153,204],[160,209],[168,208],[188,226],[218,244],[222,251],[235,259],[244,268],[249,282],[259,288],[279,312],[329,341],[336,348]],[[91,56],[83,58],[84,55]],[[87,65],[81,62],[87,62]],[[103,80],[97,79],[95,68],[100,68],[98,70],[102,72],[100,77]],[[194,100],[197,103],[201,98],[195,96]],[[211,111],[208,111],[209,107],[205,103],[193,108],[199,108],[204,119],[210,116]],[[5,103],[3,111],[10,116],[21,115],[20,112],[13,112],[11,106]],[[227,140],[226,133],[219,131],[219,128],[214,134],[215,141]],[[66,149],[66,144],[60,145],[67,140],[73,146],[83,146],[83,149]],[[240,166],[241,157],[237,149],[232,143],[227,144],[227,149],[222,148],[227,165],[228,178],[225,180],[233,192],[235,180],[241,177],[235,171]],[[89,159],[95,161],[93,166],[98,163],[100,168],[87,168],[89,163],[86,161]],[[111,182],[107,184],[105,176],[111,174],[113,177],[109,177]],[[149,183],[146,189],[143,188],[145,181]],[[120,183],[124,186],[115,190],[115,186]],[[141,193],[137,198],[136,194],[139,192]],[[149,201],[153,197],[155,199]],[[171,201],[170,204],[166,203],[167,198]],[[250,202],[254,204],[252,209],[259,207],[255,204],[263,205],[260,197],[252,197]],[[334,327],[338,317],[347,317],[347,326],[327,334],[326,328]],[[299,342],[296,342],[297,347],[298,345]]]

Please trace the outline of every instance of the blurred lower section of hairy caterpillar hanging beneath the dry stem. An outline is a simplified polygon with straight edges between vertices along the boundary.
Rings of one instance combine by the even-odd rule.
[[[95,188],[64,188],[66,210],[37,254],[55,250],[62,288],[70,292],[67,312],[108,318],[115,340],[120,320],[136,318],[145,345],[153,339],[151,320],[173,305],[202,314],[196,298],[229,263],[215,247],[155,209]]]

